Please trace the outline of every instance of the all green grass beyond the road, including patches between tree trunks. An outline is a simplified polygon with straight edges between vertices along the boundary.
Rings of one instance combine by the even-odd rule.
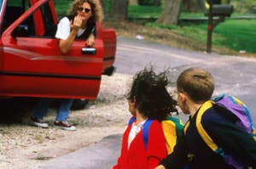
[[[150,6],[129,6],[129,18],[135,20],[136,18],[145,19],[148,17],[157,19],[160,16],[161,7]],[[232,14],[232,16],[253,16],[256,14]],[[182,13],[181,18],[205,18],[203,24],[190,23],[189,25],[160,25],[155,22],[148,22],[145,25],[149,27],[158,27],[167,29],[182,35],[183,37],[192,38],[195,41],[207,42],[207,17],[204,14],[190,14]],[[144,21],[145,22],[145,21]],[[249,53],[256,53],[256,19],[254,20],[230,20],[217,25],[212,32],[212,45],[217,47],[230,48],[231,50],[240,51],[245,50]]]

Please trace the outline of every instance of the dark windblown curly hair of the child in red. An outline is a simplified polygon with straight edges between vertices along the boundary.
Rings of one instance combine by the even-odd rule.
[[[156,74],[151,65],[134,77],[127,99],[135,101],[137,110],[148,119],[164,120],[171,112],[177,112],[177,101],[167,92],[169,84],[166,70]]]

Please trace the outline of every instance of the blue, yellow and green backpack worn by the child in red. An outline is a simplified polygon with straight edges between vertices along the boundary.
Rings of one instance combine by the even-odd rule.
[[[136,117],[131,117],[128,125],[131,125],[133,121],[136,121]],[[153,120],[148,119],[143,124],[143,143],[147,149],[148,145],[148,130]],[[168,155],[172,153],[175,144],[177,144],[178,138],[182,135],[183,132],[183,122],[180,119],[177,119],[172,116],[168,116],[166,120],[161,121],[163,131],[166,138],[166,149]]]

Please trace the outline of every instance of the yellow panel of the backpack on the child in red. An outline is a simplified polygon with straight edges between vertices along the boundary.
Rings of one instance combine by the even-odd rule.
[[[177,141],[176,126],[173,121],[162,121],[161,123],[166,138],[166,149],[169,155],[172,153]]]

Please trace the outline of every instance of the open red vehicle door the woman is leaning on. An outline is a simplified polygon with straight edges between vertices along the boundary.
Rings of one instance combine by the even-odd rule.
[[[84,41],[73,42],[73,48],[61,54],[58,41],[44,37],[47,30],[43,19],[38,19],[42,16],[39,8],[42,4],[37,3],[3,32],[0,95],[96,99],[102,76],[102,40],[96,39],[95,55],[82,54]],[[29,23],[28,32],[13,37],[23,23]]]

